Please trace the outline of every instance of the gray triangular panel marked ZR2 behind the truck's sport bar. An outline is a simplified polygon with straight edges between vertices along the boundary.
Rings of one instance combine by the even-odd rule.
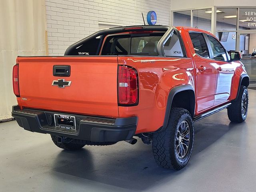
[[[184,57],[180,40],[176,34],[172,34],[164,44],[164,54],[165,56]]]

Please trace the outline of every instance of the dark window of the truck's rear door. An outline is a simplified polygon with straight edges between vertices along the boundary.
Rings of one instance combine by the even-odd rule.
[[[204,58],[210,58],[209,51],[202,33],[189,33],[196,54]]]

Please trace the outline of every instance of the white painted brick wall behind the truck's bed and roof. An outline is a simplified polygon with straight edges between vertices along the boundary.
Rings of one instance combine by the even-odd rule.
[[[100,23],[143,24],[141,12],[154,10],[157,24],[170,25],[170,0],[45,0],[50,56],[99,30]]]

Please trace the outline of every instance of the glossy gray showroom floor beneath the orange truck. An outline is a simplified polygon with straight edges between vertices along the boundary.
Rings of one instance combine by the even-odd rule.
[[[49,135],[0,123],[0,191],[255,192],[256,90],[249,92],[246,122],[230,123],[223,110],[195,123],[193,154],[180,171],[158,167],[141,140],[68,152]]]

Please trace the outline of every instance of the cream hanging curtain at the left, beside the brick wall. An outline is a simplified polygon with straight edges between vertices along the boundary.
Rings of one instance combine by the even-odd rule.
[[[46,55],[44,0],[0,0],[0,121],[17,104],[12,90],[16,57]]]

